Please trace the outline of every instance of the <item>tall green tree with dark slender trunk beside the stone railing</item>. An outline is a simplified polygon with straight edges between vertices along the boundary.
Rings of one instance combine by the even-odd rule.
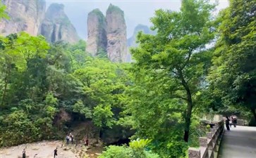
[[[188,142],[190,135],[194,101],[203,85],[203,59],[207,56],[205,46],[214,39],[214,22],[211,16],[213,8],[209,1],[184,0],[179,12],[156,11],[151,21],[157,34],[153,36],[140,32],[140,46],[131,50],[136,60],[134,71],[137,81],[154,83],[149,84],[152,90],[154,87],[160,88],[159,91],[164,89],[164,94],[154,89],[156,95],[152,98],[156,98],[156,101],[169,100],[165,103],[166,110],[171,104],[181,107],[180,112],[185,122],[185,142]],[[152,91],[147,93],[151,95]],[[166,117],[161,113],[157,114],[159,117]]]

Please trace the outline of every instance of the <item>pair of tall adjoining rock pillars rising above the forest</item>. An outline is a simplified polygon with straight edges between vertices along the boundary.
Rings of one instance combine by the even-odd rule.
[[[113,62],[126,61],[127,39],[124,13],[117,6],[109,5],[106,18],[96,9],[87,19],[87,51],[92,55],[107,53]]]

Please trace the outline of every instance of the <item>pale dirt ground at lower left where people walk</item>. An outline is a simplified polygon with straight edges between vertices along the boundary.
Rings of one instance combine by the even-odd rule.
[[[23,144],[13,147],[5,147],[0,149],[0,158],[18,158],[22,157],[25,148],[26,156],[32,158],[52,158],[54,157],[54,149],[58,147],[58,156],[56,158],[76,158],[81,157],[78,150],[82,147],[78,145],[63,146],[61,141],[41,141],[37,143]],[[68,148],[68,150],[67,150]],[[91,149],[92,150],[92,149]],[[90,150],[89,150],[90,151]],[[89,152],[88,151],[88,152]],[[97,150],[97,152],[99,152]],[[37,155],[36,155],[37,154]],[[89,157],[97,157],[95,153],[89,153]]]

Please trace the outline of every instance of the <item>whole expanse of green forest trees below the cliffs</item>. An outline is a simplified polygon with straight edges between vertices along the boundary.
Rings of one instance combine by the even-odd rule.
[[[5,9],[0,18],[8,20]],[[133,131],[128,146],[110,145],[101,158],[176,158],[199,145],[205,114],[236,114],[255,126],[256,1],[214,11],[207,0],[155,11],[157,34],[138,34],[130,63],[92,57],[83,40],[0,36],[0,147],[63,140],[75,124],[92,122],[95,138]]]

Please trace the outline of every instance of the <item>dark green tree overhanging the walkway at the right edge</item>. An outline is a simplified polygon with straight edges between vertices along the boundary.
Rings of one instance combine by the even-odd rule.
[[[224,104],[247,107],[256,120],[256,1],[231,0],[219,22],[210,84]]]

